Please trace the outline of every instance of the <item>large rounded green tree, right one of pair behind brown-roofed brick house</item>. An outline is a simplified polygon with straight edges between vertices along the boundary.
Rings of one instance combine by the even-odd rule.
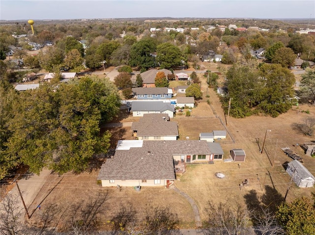
[[[169,69],[182,64],[182,52],[171,43],[162,43],[157,47],[157,62],[162,69]]]

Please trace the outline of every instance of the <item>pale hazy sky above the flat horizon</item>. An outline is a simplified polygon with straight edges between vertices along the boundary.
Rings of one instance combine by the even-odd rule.
[[[0,0],[0,20],[315,18],[315,0]]]

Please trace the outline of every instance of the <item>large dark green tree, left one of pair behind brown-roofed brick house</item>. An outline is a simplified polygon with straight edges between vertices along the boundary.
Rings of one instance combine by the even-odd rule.
[[[153,39],[141,39],[131,47],[129,65],[145,69],[156,67],[155,58],[151,54],[156,49]]]

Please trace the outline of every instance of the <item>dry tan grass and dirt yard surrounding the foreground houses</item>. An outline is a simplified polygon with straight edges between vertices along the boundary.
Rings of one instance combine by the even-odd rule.
[[[201,79],[204,89],[205,78]],[[225,116],[217,94],[214,90],[208,92],[210,98],[199,101],[197,107],[192,109],[193,117],[176,115],[172,120],[179,125],[179,139],[186,139],[187,136],[189,139],[198,139],[200,132],[225,130],[218,118],[220,117],[225,124]],[[206,103],[207,99],[211,105]],[[207,219],[204,209],[209,200],[215,203],[227,202],[231,205],[236,203],[257,205],[259,202],[270,207],[282,202],[290,186],[290,178],[283,165],[291,159],[284,155],[281,147],[290,147],[299,154],[304,165],[315,175],[315,158],[307,157],[300,147],[295,149],[293,146],[296,143],[314,141],[315,137],[296,133],[291,128],[293,123],[302,123],[306,117],[314,116],[315,106],[299,105],[300,110],[309,110],[310,114],[297,113],[295,109],[296,107],[292,107],[277,118],[264,115],[244,119],[229,117],[226,129],[229,134],[226,140],[221,141],[224,159],[229,158],[231,149],[241,148],[246,152],[245,162],[241,162],[240,165],[238,162],[223,161],[215,161],[215,164],[189,164],[187,172],[177,176],[176,187],[194,199],[202,220]],[[122,111],[122,116],[115,121],[137,120]],[[132,139],[130,128],[108,130],[113,133],[113,146],[118,139]],[[262,147],[266,130],[271,131],[267,132],[265,149],[263,154],[260,154],[259,149]],[[99,165],[100,162],[94,166],[95,169],[91,173],[50,176],[30,206],[32,211],[39,203],[41,205],[41,210],[33,213],[31,222],[47,223],[49,226],[58,224],[62,228],[69,224],[68,221],[72,217],[79,220],[91,218],[95,214],[99,226],[105,228],[115,215],[130,207],[135,208],[139,216],[146,215],[149,209],[155,207],[167,207],[178,214],[181,220],[180,227],[194,227],[194,216],[189,203],[174,190],[143,187],[140,192],[136,192],[133,188],[127,187],[121,190],[116,187],[102,188],[96,184]],[[223,173],[225,178],[216,178],[216,172]],[[249,184],[240,188],[239,184],[245,179],[249,180]],[[286,201],[291,201],[295,197],[310,196],[311,192],[315,192],[314,187],[298,188],[292,183]]]

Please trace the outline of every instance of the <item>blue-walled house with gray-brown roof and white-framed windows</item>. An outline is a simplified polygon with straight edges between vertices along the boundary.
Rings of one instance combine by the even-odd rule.
[[[166,100],[173,95],[173,90],[167,87],[136,87],[132,92],[137,100]]]

